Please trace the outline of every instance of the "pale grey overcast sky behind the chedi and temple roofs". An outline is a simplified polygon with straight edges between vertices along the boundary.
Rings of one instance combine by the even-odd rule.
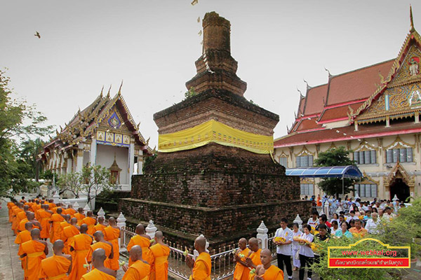
[[[305,83],[396,57],[409,31],[406,0],[0,0],[0,67],[18,97],[35,103],[48,124],[62,125],[112,84],[149,146],[155,112],[178,103],[201,55],[201,23],[215,10],[231,22],[237,75],[247,99],[279,114],[286,134]],[[413,2],[421,29],[421,3]],[[415,2],[415,3],[414,3]],[[417,25],[418,23],[418,25]],[[41,39],[34,36],[39,31]]]

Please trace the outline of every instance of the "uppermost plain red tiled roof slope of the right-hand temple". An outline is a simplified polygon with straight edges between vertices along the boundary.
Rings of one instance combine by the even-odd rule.
[[[328,105],[349,102],[370,97],[380,84],[379,72],[387,77],[394,59],[361,69],[342,73],[330,78]]]

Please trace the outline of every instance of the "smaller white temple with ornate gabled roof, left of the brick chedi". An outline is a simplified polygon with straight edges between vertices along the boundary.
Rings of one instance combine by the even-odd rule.
[[[109,169],[110,181],[122,190],[131,189],[131,176],[142,174],[142,162],[151,152],[139,132],[126,102],[119,92],[110,97],[100,95],[82,111],[56,130],[44,146],[39,160],[44,171],[55,174],[81,172],[84,165]]]

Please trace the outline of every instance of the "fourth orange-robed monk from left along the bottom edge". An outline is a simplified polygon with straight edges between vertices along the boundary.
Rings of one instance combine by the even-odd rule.
[[[133,265],[127,267],[123,266],[123,271],[126,272],[123,280],[148,280],[150,266],[142,259],[142,247],[135,245],[130,251],[130,258],[133,260]]]

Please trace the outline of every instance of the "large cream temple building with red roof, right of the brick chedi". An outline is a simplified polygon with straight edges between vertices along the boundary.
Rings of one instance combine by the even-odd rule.
[[[328,75],[328,83],[300,96],[285,137],[274,142],[286,168],[311,167],[320,152],[344,146],[365,175],[361,199],[400,200],[421,192],[421,37],[413,25],[395,59]],[[301,196],[323,195],[318,181],[301,180]]]

